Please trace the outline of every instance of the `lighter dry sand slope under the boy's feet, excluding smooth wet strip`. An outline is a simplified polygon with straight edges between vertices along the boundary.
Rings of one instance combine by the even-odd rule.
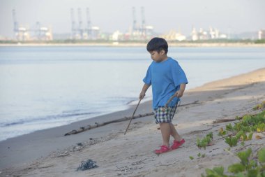
[[[3,169],[0,176],[201,176],[206,168],[227,167],[237,162],[223,150],[229,146],[217,136],[218,129],[225,127],[227,122],[213,124],[213,120],[257,113],[252,108],[265,100],[264,90],[265,69],[259,69],[185,92],[183,104],[195,100],[199,100],[199,104],[179,107],[173,123],[177,124],[186,143],[169,153],[152,153],[161,143],[158,125],[137,119],[132,120],[126,136],[123,132],[128,122],[107,125],[105,129],[118,131],[109,132],[103,138],[88,139],[82,146],[75,144],[64,150],[54,149],[54,153],[32,164]],[[202,138],[209,132],[213,132],[214,145],[206,150],[197,148],[197,137]],[[264,143],[265,139],[257,140],[253,136],[245,146],[232,148],[232,152],[260,148]],[[198,153],[205,153],[206,157],[197,157]],[[190,156],[195,159],[190,160]],[[99,167],[76,171],[80,162],[88,159],[96,161]]]

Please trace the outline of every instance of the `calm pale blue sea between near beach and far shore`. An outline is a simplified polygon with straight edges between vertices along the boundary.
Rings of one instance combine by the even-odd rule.
[[[187,89],[265,66],[265,48],[168,55],[188,76]],[[0,141],[128,108],[150,63],[143,47],[0,47]]]

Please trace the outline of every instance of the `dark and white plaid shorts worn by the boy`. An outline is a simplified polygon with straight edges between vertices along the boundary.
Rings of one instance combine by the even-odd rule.
[[[177,104],[173,107],[159,106],[154,110],[155,121],[157,124],[165,123],[165,122],[172,122],[174,115],[176,113]],[[163,110],[165,108],[165,110]]]

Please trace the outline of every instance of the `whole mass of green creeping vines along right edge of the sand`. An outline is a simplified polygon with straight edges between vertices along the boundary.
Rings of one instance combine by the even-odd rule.
[[[262,102],[265,105],[265,101]],[[256,106],[259,109],[261,106]],[[264,108],[264,107],[263,107]],[[219,129],[218,135],[225,138],[225,143],[230,147],[236,146],[239,141],[244,146],[244,142],[251,140],[254,132],[265,132],[265,111],[257,113],[257,115],[244,115],[240,122],[226,125],[225,130]],[[258,135],[257,135],[258,136]],[[262,139],[257,137],[256,139]],[[261,144],[262,147],[264,147]],[[225,149],[228,153],[234,155],[230,148]],[[239,163],[231,164],[227,168],[214,167],[206,169],[206,176],[202,177],[265,177],[265,148],[260,149],[257,154],[252,153],[252,149],[241,151],[235,155],[239,159]]]

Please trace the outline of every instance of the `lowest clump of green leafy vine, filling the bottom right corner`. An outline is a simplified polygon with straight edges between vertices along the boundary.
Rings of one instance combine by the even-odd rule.
[[[236,157],[240,162],[229,165],[227,174],[224,167],[214,167],[206,169],[206,176],[202,174],[202,177],[265,177],[265,148],[259,150],[257,155],[253,155],[249,148],[237,153]]]

